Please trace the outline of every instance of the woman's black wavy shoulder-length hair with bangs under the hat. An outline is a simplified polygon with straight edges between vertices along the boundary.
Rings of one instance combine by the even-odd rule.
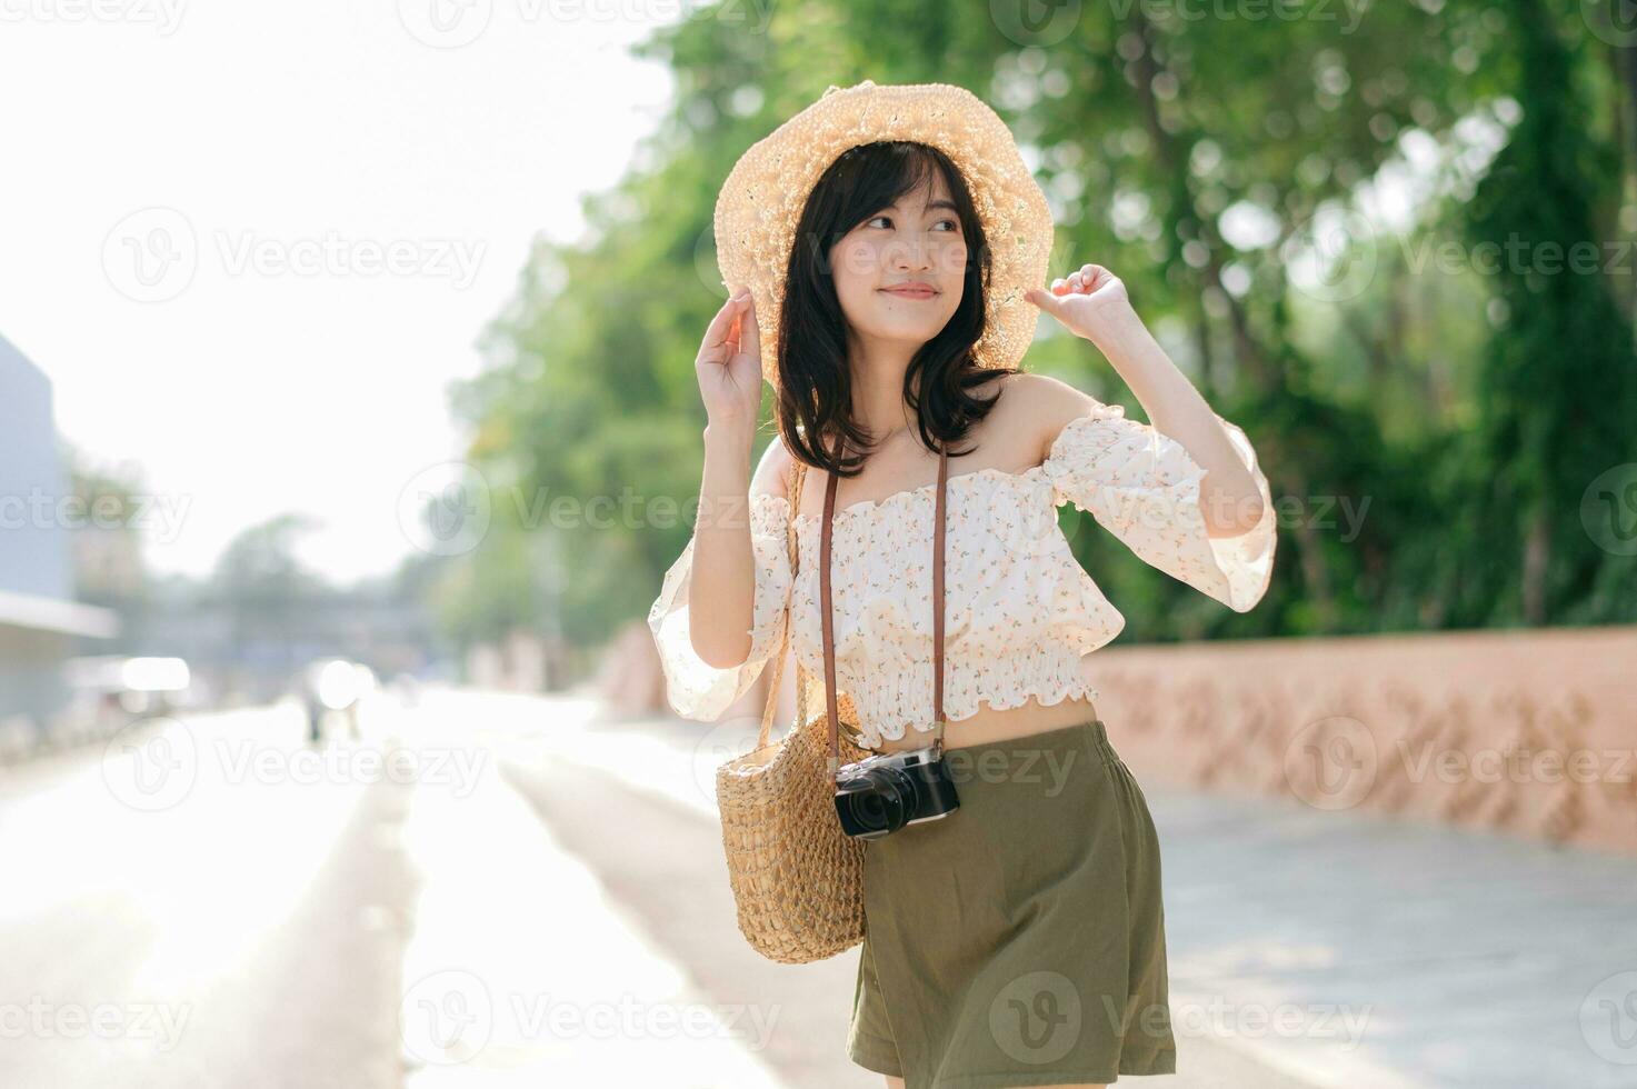
[[[933,170],[949,187],[966,237],[966,280],[948,324],[910,359],[904,398],[915,409],[922,442],[930,450],[966,437],[1000,400],[999,393],[989,400],[967,393],[1010,368],[981,367],[972,352],[984,331],[990,249],[966,178],[945,152],[928,144],[877,141],[851,147],[830,164],[807,197],[784,280],[778,427],[792,457],[814,468],[856,477],[873,449],[851,419],[846,319],[835,291],[830,247],[868,216],[930,185]],[[949,457],[958,454],[951,449]]]

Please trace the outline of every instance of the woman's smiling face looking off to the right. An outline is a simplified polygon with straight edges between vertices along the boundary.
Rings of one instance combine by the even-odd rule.
[[[943,175],[848,231],[830,267],[851,336],[912,349],[938,336],[966,285],[966,237]]]

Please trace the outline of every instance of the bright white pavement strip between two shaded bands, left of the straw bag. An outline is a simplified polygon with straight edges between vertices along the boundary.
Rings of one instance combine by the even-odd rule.
[[[458,696],[422,714],[458,709]],[[470,721],[470,719],[465,719]],[[450,732],[427,735],[449,747]],[[475,778],[419,781],[404,848],[419,874],[404,955],[411,1089],[778,1089],[758,1009],[709,1001],[507,784],[507,735],[465,735]]]

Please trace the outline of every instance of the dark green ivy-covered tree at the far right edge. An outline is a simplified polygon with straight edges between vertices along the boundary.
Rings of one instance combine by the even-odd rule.
[[[1467,517],[1481,532],[1473,542],[1481,552],[1463,573],[1470,596],[1452,619],[1630,621],[1637,596],[1596,588],[1621,585],[1632,557],[1599,547],[1583,503],[1604,470],[1637,462],[1637,359],[1604,275],[1609,247],[1578,269],[1567,260],[1570,244],[1599,237],[1598,205],[1619,193],[1621,164],[1617,149],[1581,124],[1580,57],[1549,11],[1539,0],[1506,7],[1517,26],[1524,113],[1470,201],[1467,231],[1475,244],[1517,257],[1495,272],[1498,318],[1483,355],[1478,426],[1463,450],[1481,478],[1452,496],[1473,508]]]

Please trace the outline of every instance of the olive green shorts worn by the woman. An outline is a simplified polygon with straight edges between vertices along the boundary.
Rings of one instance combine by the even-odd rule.
[[[848,1055],[905,1089],[1175,1073],[1159,837],[1102,721],[945,760],[959,809],[864,843]]]

